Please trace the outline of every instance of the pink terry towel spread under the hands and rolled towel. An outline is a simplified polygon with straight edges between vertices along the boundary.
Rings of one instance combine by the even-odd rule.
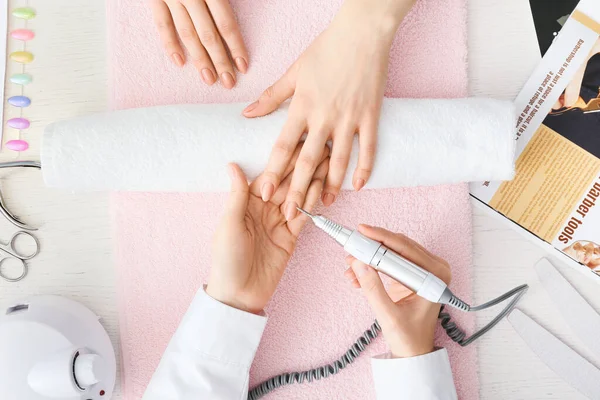
[[[146,2],[109,0],[112,104],[252,101],[274,82],[335,15],[341,0],[234,0],[250,52],[250,69],[235,90],[205,86],[192,66],[174,67],[157,39]],[[421,0],[406,18],[391,54],[386,95],[467,95],[466,0]],[[113,215],[120,281],[123,391],[141,398],[181,316],[205,282],[212,233],[226,194],[117,194]],[[360,222],[404,232],[453,268],[453,290],[471,293],[471,213],[466,185],[343,193],[321,210],[348,226]],[[266,312],[269,324],[251,385],[274,374],[331,362],[372,323],[359,291],[343,278],[344,256],[308,227]],[[456,315],[456,313],[454,313]],[[474,321],[457,320],[467,330]],[[476,352],[442,334],[462,399],[478,398]],[[201,340],[201,338],[199,338]],[[336,377],[280,389],[269,398],[372,399],[369,357],[378,339]]]

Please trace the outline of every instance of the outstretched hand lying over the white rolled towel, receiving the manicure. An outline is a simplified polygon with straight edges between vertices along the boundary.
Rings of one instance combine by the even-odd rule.
[[[293,95],[285,126],[273,148],[260,193],[268,201],[283,180],[296,145],[308,132],[286,198],[285,216],[306,201],[319,155],[331,140],[331,165],[323,192],[330,205],[346,174],[358,133],[360,156],[353,186],[360,190],[373,169],[377,127],[387,79],[390,47],[414,0],[346,0],[331,25],[286,74],[244,110],[258,117]]]

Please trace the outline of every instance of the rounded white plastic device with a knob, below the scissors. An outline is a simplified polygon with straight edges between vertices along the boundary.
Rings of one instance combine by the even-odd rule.
[[[37,296],[0,316],[0,399],[108,400],[115,352],[99,318],[75,301]]]

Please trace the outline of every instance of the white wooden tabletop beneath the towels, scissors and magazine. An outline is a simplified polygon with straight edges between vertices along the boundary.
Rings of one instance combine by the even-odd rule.
[[[27,66],[34,83],[25,94],[34,102],[25,116],[32,148],[22,159],[37,159],[43,128],[53,121],[107,108],[105,4],[90,0],[11,0],[11,7],[30,4],[38,17],[28,22],[38,36],[28,45],[36,61]],[[21,27],[22,21],[11,27]],[[153,34],[153,33],[151,33]],[[9,51],[20,49],[12,40]],[[527,0],[471,0],[469,5],[470,88],[473,95],[512,99],[539,60]],[[9,63],[9,74],[20,71]],[[8,84],[7,96],[16,93]],[[15,116],[7,107],[6,118]],[[15,132],[7,131],[12,137]],[[12,135],[12,136],[11,136]],[[3,152],[3,161],[15,159]],[[0,280],[0,306],[34,294],[58,294],[80,301],[102,317],[118,348],[115,271],[109,196],[74,194],[43,187],[35,170],[2,171],[1,192],[11,210],[36,233],[41,254],[31,261],[20,283]],[[0,218],[0,238],[15,232]],[[543,291],[533,264],[544,251],[508,224],[474,209],[474,297],[476,303],[521,283],[531,289],[521,308],[575,349],[588,354]],[[566,277],[600,310],[596,283],[562,268]],[[11,272],[8,268],[7,272]],[[478,315],[482,326],[497,310]],[[477,343],[480,393],[483,399],[583,399],[550,371],[503,321]],[[598,355],[600,357],[600,355]],[[591,358],[600,365],[598,359]],[[120,399],[119,390],[114,396]]]

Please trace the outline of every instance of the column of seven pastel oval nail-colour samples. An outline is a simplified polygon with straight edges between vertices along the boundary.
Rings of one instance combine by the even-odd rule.
[[[16,18],[30,20],[35,18],[36,13],[30,7],[21,7],[14,9],[12,15]],[[10,36],[15,40],[28,42],[35,38],[35,33],[30,29],[15,29]],[[29,64],[34,60],[33,54],[28,51],[15,51],[10,54],[9,58],[20,64]],[[10,77],[10,81],[16,85],[25,86],[31,83],[32,77],[26,73],[14,74]],[[8,99],[8,104],[13,107],[25,108],[31,105],[31,99],[27,96],[12,96]],[[22,130],[28,129],[31,123],[26,118],[11,118],[7,121],[7,125]],[[29,143],[25,140],[10,140],[6,142],[6,148],[13,151],[25,151],[29,148]]]

